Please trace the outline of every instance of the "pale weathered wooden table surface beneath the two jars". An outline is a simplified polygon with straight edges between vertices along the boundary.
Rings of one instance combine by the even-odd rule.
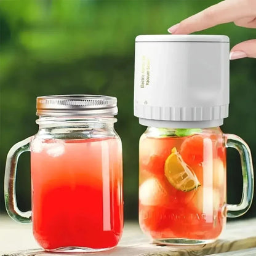
[[[38,248],[36,250],[36,248]],[[29,250],[32,249],[32,250]],[[34,250],[33,250],[34,249]],[[17,251],[20,251],[17,253]],[[12,252],[12,253],[11,253]],[[15,252],[15,253],[13,253]],[[50,256],[39,249],[34,241],[31,225],[15,223],[9,217],[0,216],[0,255]],[[70,254],[55,254],[65,255]],[[140,231],[137,223],[127,222],[118,247],[100,253],[78,254],[113,256],[256,256],[256,218],[238,220],[226,225],[220,239],[214,244],[201,246],[156,246]]]

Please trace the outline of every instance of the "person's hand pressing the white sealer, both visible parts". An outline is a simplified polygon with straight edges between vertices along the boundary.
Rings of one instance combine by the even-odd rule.
[[[256,28],[256,0],[225,0],[210,6],[171,26],[172,34],[190,34],[222,23],[234,22],[245,28]],[[256,39],[241,42],[230,51],[230,59],[256,58]]]

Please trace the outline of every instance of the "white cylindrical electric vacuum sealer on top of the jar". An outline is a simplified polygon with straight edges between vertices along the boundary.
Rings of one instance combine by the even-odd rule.
[[[151,127],[205,128],[228,117],[228,36],[135,39],[134,115]]]

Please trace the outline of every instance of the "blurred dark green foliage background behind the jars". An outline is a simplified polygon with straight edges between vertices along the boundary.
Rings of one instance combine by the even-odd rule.
[[[6,155],[36,134],[36,97],[103,94],[118,97],[116,130],[124,152],[126,219],[137,219],[138,138],[145,127],[133,116],[134,39],[166,34],[169,26],[217,1],[1,1],[1,211]],[[226,34],[231,47],[256,38],[255,30],[220,25],[203,34]],[[224,132],[238,134],[256,156],[256,60],[231,62],[230,117]],[[17,198],[30,209],[30,158],[18,166]],[[228,202],[241,199],[238,153],[228,150]],[[244,217],[256,216],[256,204]]]

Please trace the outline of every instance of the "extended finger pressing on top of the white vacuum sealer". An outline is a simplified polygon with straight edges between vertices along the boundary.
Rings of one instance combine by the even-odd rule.
[[[202,10],[169,28],[172,34],[189,34],[212,26],[233,22],[244,17],[254,16],[251,2],[255,0],[225,0]],[[256,1],[255,1],[256,2]]]

